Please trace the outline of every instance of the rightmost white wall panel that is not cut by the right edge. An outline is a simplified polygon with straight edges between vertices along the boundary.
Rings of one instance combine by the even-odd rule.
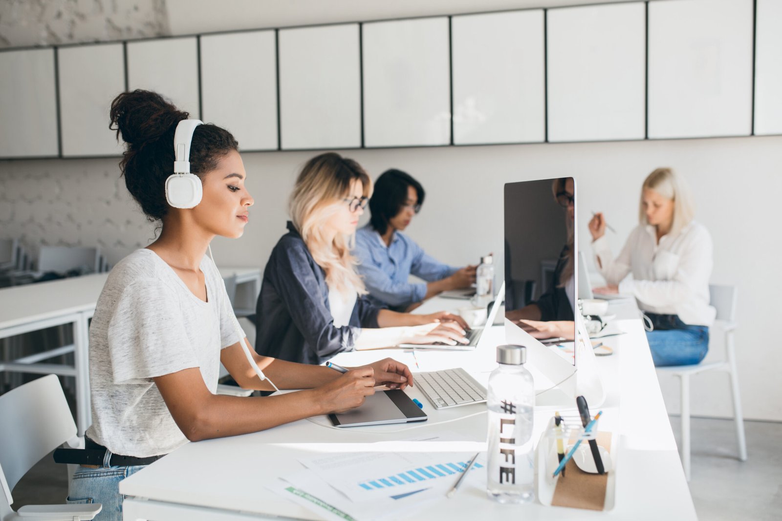
[[[649,136],[752,132],[752,0],[649,2]]]

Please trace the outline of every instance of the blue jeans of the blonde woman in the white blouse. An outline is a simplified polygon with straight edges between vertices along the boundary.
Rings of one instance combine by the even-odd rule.
[[[694,366],[704,359],[708,351],[708,327],[690,326],[678,316],[662,316],[669,317],[666,321],[669,323],[660,329],[662,324],[656,317],[647,315],[655,323],[655,330],[646,332],[655,366]]]

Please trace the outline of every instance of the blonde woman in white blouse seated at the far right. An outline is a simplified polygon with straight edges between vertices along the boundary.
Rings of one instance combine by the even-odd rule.
[[[603,214],[589,223],[597,267],[608,284],[595,293],[637,299],[654,326],[647,339],[655,366],[697,364],[708,351],[708,327],[716,314],[708,305],[712,236],[693,216],[687,184],[673,170],[658,168],[644,180],[640,224],[618,257],[605,237]]]

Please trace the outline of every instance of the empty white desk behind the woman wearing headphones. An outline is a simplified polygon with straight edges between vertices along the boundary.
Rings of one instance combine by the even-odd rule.
[[[249,294],[260,292],[260,269],[226,267],[221,275],[236,275],[237,286],[249,285]],[[89,320],[95,314],[95,304],[106,284],[108,273],[96,273],[70,279],[51,280],[37,284],[7,287],[0,290],[0,339],[13,337],[47,327],[73,324],[74,344],[49,351],[48,356],[31,355],[25,362],[0,362],[0,373],[6,369],[25,373],[56,373],[76,379],[76,425],[79,435],[92,423],[89,386]],[[254,305],[254,302],[253,302]],[[74,367],[61,364],[32,363],[55,355],[74,353]]]

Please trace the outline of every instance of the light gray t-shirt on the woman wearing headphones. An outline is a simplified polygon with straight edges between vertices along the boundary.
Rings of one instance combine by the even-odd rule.
[[[239,337],[217,267],[204,255],[200,268],[207,302],[149,249],[109,273],[90,326],[87,435],[112,452],[145,458],[187,442],[153,377],[198,367],[206,387],[217,389],[221,348]]]

